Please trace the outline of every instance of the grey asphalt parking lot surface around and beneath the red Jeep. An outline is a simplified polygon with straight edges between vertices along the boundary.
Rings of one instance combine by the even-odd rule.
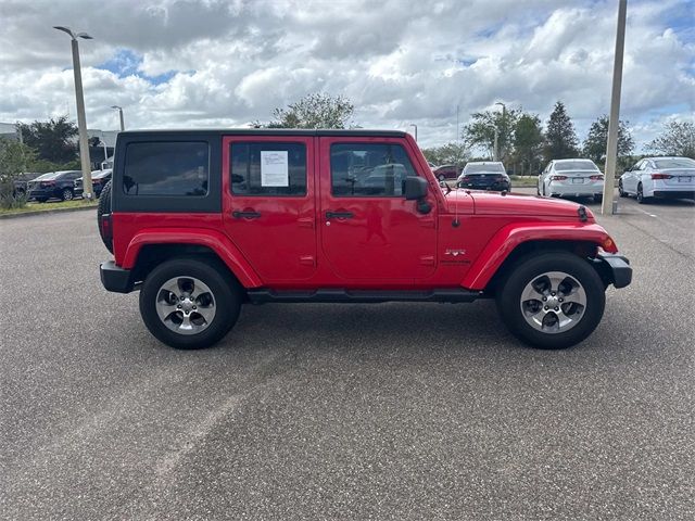
[[[1,517],[693,519],[695,203],[619,212],[633,284],[564,352],[490,302],[247,306],[177,352],[92,211],[1,220]]]

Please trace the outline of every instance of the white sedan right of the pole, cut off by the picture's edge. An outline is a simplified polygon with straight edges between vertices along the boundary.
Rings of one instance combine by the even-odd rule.
[[[690,157],[645,157],[620,176],[621,198],[639,203],[653,198],[695,199],[695,161]]]

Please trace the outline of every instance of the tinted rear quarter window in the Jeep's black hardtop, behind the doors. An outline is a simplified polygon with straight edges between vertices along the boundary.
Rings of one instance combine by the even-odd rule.
[[[123,191],[128,195],[205,195],[208,175],[205,142],[128,143]]]

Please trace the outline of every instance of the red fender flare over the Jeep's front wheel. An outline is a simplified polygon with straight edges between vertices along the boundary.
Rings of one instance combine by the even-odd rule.
[[[520,223],[501,228],[466,272],[462,287],[482,291],[502,263],[520,244],[529,241],[591,242],[617,253],[615,242],[599,225],[583,223]]]

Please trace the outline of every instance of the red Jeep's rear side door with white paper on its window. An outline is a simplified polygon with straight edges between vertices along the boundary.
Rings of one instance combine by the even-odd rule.
[[[224,223],[264,283],[316,270],[314,138],[223,138]]]

